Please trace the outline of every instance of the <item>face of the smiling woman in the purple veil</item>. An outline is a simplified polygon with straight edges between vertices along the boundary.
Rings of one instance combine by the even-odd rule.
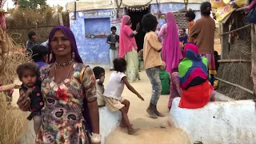
[[[71,56],[70,40],[66,38],[62,30],[56,30],[50,42],[51,49],[55,56]]]

